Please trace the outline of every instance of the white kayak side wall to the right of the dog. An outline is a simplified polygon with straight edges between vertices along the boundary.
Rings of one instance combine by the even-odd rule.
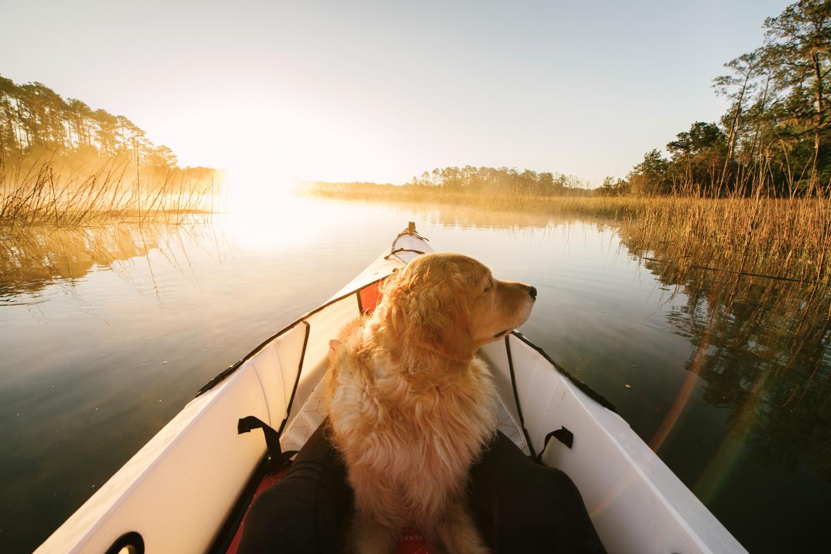
[[[626,420],[580,390],[542,349],[514,333],[482,353],[518,421],[519,404],[534,452],[577,485],[607,552],[747,552]],[[546,444],[561,428],[563,440]]]

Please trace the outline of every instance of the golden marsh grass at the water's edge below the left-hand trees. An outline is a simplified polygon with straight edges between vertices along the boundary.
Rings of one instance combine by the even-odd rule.
[[[213,177],[185,179],[184,173],[173,170],[161,178],[142,176],[123,159],[81,173],[62,169],[50,159],[0,165],[0,228],[148,218],[177,223],[187,213],[212,211],[218,192]]]

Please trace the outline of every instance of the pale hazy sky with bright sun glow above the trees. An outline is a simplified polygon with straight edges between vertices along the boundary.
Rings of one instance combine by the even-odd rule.
[[[123,114],[183,164],[402,182],[622,176],[791,2],[0,0],[0,75]]]

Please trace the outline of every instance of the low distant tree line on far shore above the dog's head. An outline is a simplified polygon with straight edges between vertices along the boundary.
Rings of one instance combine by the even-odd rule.
[[[499,192],[511,194],[539,194],[557,196],[561,194],[588,194],[591,185],[574,175],[558,173],[537,173],[530,169],[516,168],[445,167],[425,171],[413,177],[411,186],[441,187],[448,190],[469,192]]]

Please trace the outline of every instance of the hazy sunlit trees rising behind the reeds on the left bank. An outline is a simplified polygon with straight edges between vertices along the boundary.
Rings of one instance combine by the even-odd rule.
[[[93,110],[38,82],[0,76],[0,165],[38,155],[124,156],[132,164],[175,168],[167,146],[154,145],[124,115]]]

